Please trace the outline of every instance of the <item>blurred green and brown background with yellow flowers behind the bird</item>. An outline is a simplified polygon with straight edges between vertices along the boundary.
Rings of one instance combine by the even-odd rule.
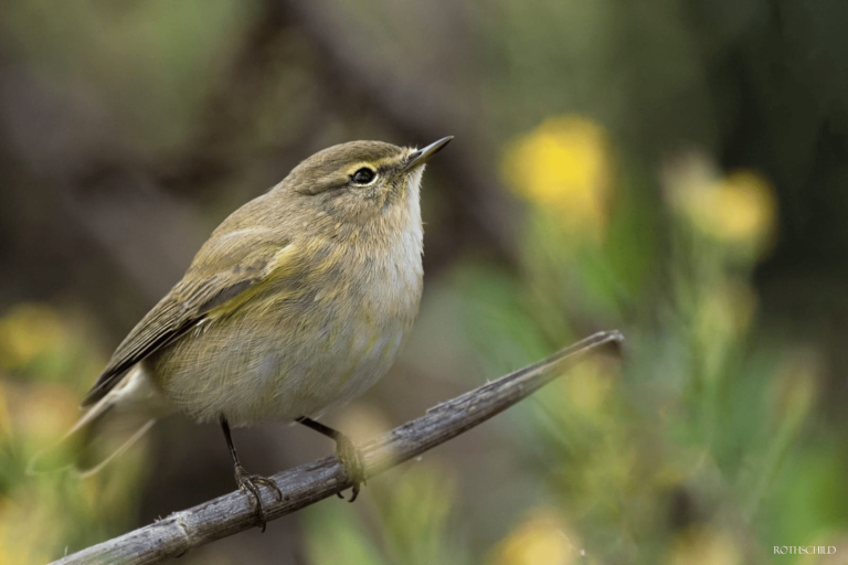
[[[456,139],[412,340],[360,440],[601,329],[627,337],[369,482],[180,563],[848,563],[848,3],[166,0],[0,8],[0,562],[233,490],[170,418],[26,477],[232,210],[325,147]],[[234,431],[272,473],[332,452]],[[836,554],[774,555],[774,546]]]

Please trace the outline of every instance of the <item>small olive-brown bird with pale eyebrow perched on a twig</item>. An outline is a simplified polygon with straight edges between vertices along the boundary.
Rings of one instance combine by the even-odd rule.
[[[315,418],[371,387],[410,333],[422,292],[422,173],[452,139],[330,147],[232,213],[118,345],[68,436],[134,415],[140,426],[123,450],[170,413],[219,422],[264,531],[258,486],[282,493],[245,471],[230,427],[298,422],[336,441],[352,502],[361,455]]]

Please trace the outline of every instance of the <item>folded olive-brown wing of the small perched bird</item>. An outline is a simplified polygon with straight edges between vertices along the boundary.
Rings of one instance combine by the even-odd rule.
[[[206,242],[183,279],[118,345],[83,398],[83,407],[103,398],[132,365],[172,343],[215,308],[236,297],[251,296],[253,292],[246,291],[262,286],[272,273],[290,269],[293,257],[294,246],[288,241],[264,230],[237,232]]]

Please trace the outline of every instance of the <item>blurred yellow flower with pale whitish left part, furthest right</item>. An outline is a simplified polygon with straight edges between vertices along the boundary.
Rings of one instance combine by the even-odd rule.
[[[718,242],[761,252],[774,234],[777,201],[760,173],[721,177],[702,154],[677,159],[665,170],[671,205],[698,231]]]

